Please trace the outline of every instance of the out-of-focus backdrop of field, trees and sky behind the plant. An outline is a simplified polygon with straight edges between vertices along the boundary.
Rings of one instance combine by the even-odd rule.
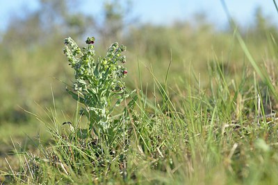
[[[267,47],[278,34],[274,3],[226,3],[256,61],[276,58],[277,51]],[[48,120],[54,97],[62,123],[73,118],[76,103],[63,83],[72,85],[74,80],[63,55],[65,37],[82,46],[86,37],[95,36],[97,56],[104,55],[113,42],[125,44],[126,85],[131,89],[139,86],[139,63],[143,89],[148,88],[150,96],[152,75],[146,67],[163,81],[172,60],[170,85],[182,89],[193,71],[205,88],[211,61],[221,62],[231,78],[248,65],[217,0],[1,1],[0,19],[0,146],[9,148],[10,137],[21,142],[38,134],[48,137],[44,124],[24,109]],[[0,155],[6,147],[1,147]]]

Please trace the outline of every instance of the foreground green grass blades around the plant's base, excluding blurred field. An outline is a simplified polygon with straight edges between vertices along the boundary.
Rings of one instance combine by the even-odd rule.
[[[72,136],[49,109],[52,123],[35,116],[49,128],[51,144],[34,143],[35,154],[15,149],[19,168],[8,166],[1,177],[35,184],[277,184],[277,117],[270,114],[277,104],[268,85],[252,69],[238,82],[226,78],[217,60],[205,89],[193,73],[183,79],[185,90],[171,86],[168,72],[161,83],[149,69],[153,96],[138,90],[114,148],[99,152],[95,140]]]

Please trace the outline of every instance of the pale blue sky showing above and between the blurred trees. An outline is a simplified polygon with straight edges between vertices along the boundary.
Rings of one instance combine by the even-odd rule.
[[[37,0],[11,0],[0,2],[0,30],[8,25],[10,17],[22,15],[23,9],[36,10]],[[101,0],[83,0],[81,10],[87,14],[100,15]],[[261,7],[263,14],[270,17],[278,26],[278,13],[273,0],[225,0],[229,12],[241,26],[249,26],[254,21],[256,8]],[[278,1],[277,1],[278,3]],[[131,15],[137,17],[141,23],[171,24],[174,21],[192,19],[193,15],[202,12],[208,21],[222,28],[227,26],[227,16],[220,0],[140,0],[133,1]]]

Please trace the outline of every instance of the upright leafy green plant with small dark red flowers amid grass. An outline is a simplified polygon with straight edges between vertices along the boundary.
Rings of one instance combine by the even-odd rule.
[[[107,130],[111,123],[113,108],[124,99],[124,82],[127,71],[124,67],[126,46],[112,44],[104,58],[95,59],[95,37],[88,37],[87,47],[80,49],[71,37],[65,39],[64,53],[74,69],[76,82],[67,91],[85,107],[81,109],[90,121],[89,129]],[[113,101],[113,99],[117,101]],[[112,105],[116,102],[115,105]]]

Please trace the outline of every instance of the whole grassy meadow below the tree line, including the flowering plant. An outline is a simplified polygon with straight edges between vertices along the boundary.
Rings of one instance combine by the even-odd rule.
[[[202,16],[122,35],[35,21],[1,39],[1,183],[278,184],[278,30],[259,9],[226,30]]]

